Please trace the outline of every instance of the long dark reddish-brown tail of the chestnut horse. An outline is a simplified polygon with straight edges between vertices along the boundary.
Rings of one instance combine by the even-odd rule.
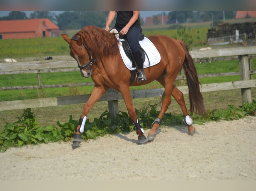
[[[203,96],[200,92],[199,86],[201,84],[198,80],[197,70],[194,65],[194,61],[188,52],[188,48],[187,48],[186,44],[181,40],[178,40],[178,42],[181,44],[181,46],[185,52],[185,60],[183,63],[183,69],[185,71],[186,79],[187,79],[189,102],[190,102],[190,110],[189,111],[191,114],[193,114],[195,111],[196,113],[204,115],[206,113],[206,109],[204,106]]]

